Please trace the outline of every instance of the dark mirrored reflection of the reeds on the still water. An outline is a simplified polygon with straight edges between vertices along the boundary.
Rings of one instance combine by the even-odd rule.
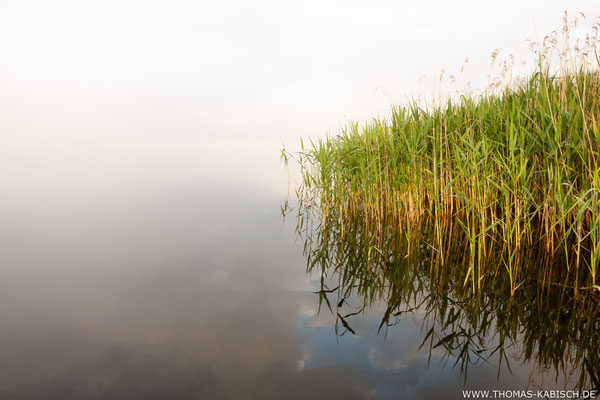
[[[514,359],[531,366],[529,384],[535,387],[544,384],[535,371],[563,387],[600,387],[597,290],[549,289],[547,282],[531,280],[511,296],[506,274],[492,274],[474,294],[464,285],[460,246],[443,256],[440,267],[442,257],[427,245],[426,233],[413,232],[420,240],[412,242],[420,244],[409,247],[403,232],[384,224],[374,228],[360,215],[303,210],[297,233],[307,270],[320,278],[319,309],[335,316],[338,335],[356,334],[353,320],[382,307],[380,333],[387,335],[408,315],[422,318],[421,348],[430,358],[441,350],[443,364],[459,368],[465,382],[473,366],[493,362],[499,376],[512,371]]]

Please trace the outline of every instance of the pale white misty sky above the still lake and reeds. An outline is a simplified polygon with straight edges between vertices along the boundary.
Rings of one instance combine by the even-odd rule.
[[[0,1],[0,144],[290,142],[597,1]],[[535,29],[534,29],[535,27]],[[425,76],[428,80],[419,83]]]

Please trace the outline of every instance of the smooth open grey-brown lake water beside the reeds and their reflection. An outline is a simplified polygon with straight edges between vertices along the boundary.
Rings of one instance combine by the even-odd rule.
[[[506,351],[512,372],[495,354],[465,380],[444,346],[419,350],[425,309],[379,334],[385,303],[347,318],[355,334],[322,299],[318,313],[321,274],[306,274],[296,221],[282,225],[277,146],[5,149],[0,397],[431,399],[564,386],[518,346]]]

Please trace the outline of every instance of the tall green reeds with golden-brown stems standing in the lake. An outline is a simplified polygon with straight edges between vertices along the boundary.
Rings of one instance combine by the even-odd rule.
[[[298,153],[284,149],[302,174],[299,233],[310,240],[338,226],[343,250],[354,240],[344,225],[362,224],[367,269],[426,247],[432,287],[458,268],[457,284],[472,293],[506,282],[510,297],[534,284],[597,299],[600,23],[574,42],[576,24],[565,14],[562,29],[531,43],[537,71],[526,78],[505,64],[480,96],[394,107]],[[387,252],[389,240],[404,253]]]

